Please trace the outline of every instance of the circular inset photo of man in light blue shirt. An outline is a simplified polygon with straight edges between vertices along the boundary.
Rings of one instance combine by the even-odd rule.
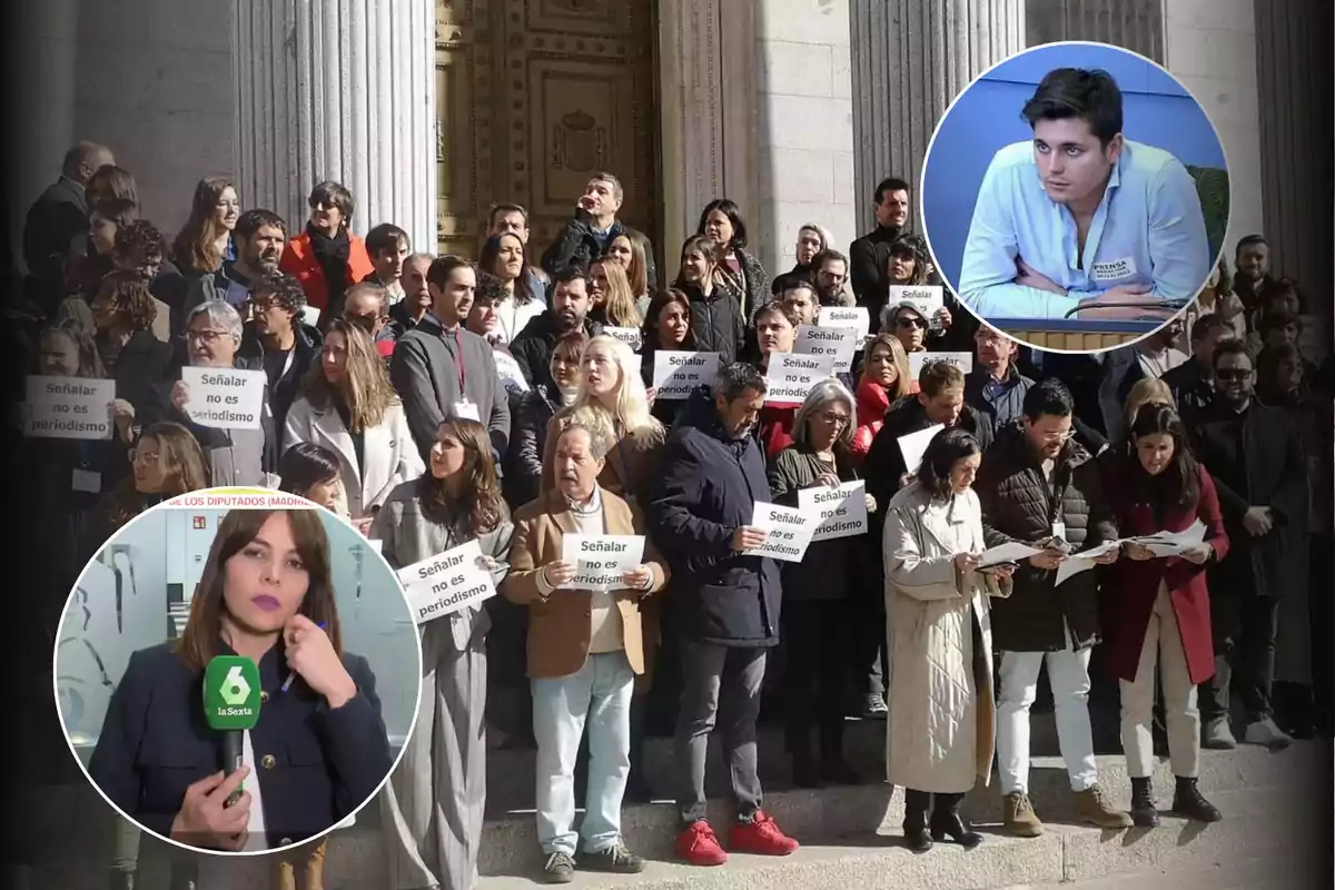
[[[1207,284],[1228,230],[1214,124],[1156,63],[1056,43],[980,75],[922,164],[933,263],[960,302],[1040,348],[1147,336]]]

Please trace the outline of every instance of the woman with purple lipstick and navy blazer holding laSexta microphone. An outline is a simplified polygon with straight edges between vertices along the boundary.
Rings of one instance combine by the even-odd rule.
[[[244,730],[243,766],[227,777],[222,739],[199,715],[204,671],[219,655],[255,662],[263,703]],[[284,690],[290,677],[296,682]],[[88,775],[162,837],[258,851],[338,825],[390,766],[375,675],[342,648],[320,514],[234,510],[214,536],[180,639],[131,655]]]

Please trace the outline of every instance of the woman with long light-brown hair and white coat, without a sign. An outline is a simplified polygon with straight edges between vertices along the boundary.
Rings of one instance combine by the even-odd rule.
[[[348,515],[362,524],[395,486],[426,471],[375,343],[344,319],[330,323],[320,363],[287,412],[283,450],[298,442],[314,442],[339,456]]]

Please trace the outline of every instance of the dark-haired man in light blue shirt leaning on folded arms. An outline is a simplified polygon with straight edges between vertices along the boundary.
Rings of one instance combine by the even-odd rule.
[[[973,208],[963,300],[985,319],[1168,319],[1210,278],[1196,184],[1121,133],[1103,71],[1048,72],[1024,107],[1033,140],[1001,148]]]

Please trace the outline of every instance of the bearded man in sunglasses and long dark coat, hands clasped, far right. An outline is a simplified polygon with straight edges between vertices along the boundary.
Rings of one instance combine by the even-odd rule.
[[[1202,745],[1236,745],[1230,729],[1234,687],[1246,713],[1243,741],[1283,747],[1292,738],[1274,721],[1275,634],[1283,596],[1307,583],[1307,460],[1288,412],[1255,402],[1247,347],[1223,340],[1212,363],[1215,399],[1192,431],[1219,490],[1230,548],[1210,570],[1215,675],[1200,686]]]

